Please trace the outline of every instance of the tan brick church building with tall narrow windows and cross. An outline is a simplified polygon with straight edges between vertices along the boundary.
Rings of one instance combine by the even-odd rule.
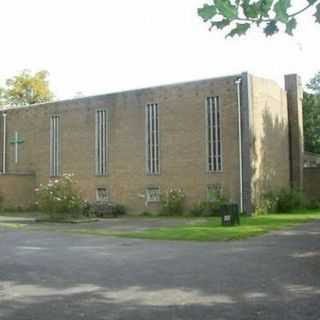
[[[222,192],[251,212],[268,190],[303,184],[302,87],[243,73],[0,112],[0,193],[28,206],[73,173],[83,197],[153,210],[181,188],[187,205]]]

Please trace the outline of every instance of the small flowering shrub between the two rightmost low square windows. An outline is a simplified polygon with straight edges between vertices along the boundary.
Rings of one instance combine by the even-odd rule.
[[[181,189],[170,189],[160,196],[162,215],[182,215],[184,211],[185,194]]]

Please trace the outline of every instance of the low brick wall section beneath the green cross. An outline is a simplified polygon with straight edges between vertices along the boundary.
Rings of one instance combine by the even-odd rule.
[[[3,207],[29,207],[34,203],[33,174],[0,175],[0,197]]]

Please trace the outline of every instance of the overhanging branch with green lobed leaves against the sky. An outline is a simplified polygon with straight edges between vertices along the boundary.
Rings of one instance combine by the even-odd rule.
[[[252,26],[272,36],[281,29],[289,35],[298,25],[297,17],[314,9],[315,22],[320,23],[320,0],[300,0],[294,7],[291,0],[211,0],[198,9],[198,15],[212,28],[227,28],[226,37],[241,36]]]

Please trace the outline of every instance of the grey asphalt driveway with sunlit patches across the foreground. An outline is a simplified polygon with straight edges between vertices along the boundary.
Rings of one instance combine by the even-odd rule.
[[[191,243],[0,229],[0,319],[320,319],[320,222]]]

